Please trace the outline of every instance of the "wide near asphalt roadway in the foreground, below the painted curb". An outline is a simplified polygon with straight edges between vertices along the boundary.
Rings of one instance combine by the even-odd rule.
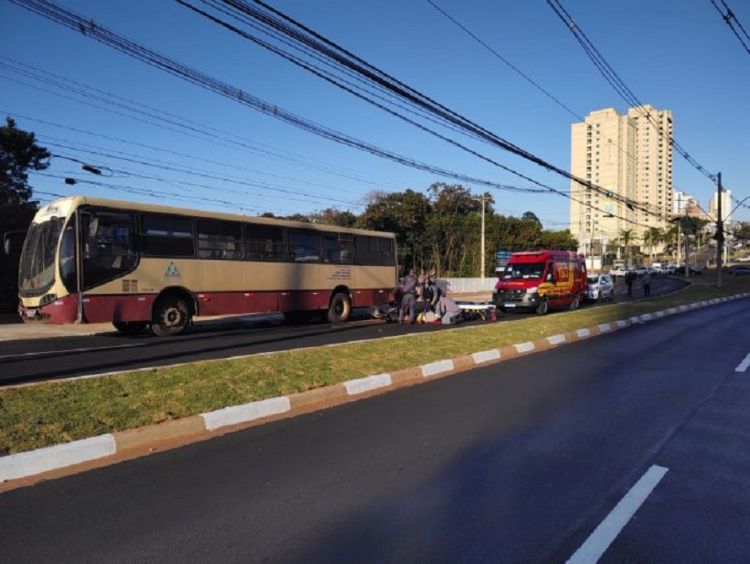
[[[563,562],[657,466],[602,561],[747,562],[748,324],[705,308],[0,494],[0,555]]]

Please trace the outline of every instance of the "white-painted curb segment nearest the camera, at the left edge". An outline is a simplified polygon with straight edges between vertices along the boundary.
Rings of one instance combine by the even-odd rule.
[[[107,433],[80,441],[2,456],[0,482],[104,458],[116,452],[115,437]]]

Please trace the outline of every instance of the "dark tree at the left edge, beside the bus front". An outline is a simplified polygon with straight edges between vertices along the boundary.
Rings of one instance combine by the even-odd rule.
[[[0,239],[6,232],[25,231],[36,213],[31,201],[29,170],[44,170],[49,152],[36,144],[34,134],[6,118],[0,127]],[[18,300],[19,250],[0,252],[0,311],[15,311]]]

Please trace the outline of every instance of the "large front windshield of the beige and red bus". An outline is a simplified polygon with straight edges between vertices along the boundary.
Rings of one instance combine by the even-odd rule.
[[[18,272],[18,289],[22,296],[43,294],[54,283],[55,253],[64,221],[53,217],[29,227]]]

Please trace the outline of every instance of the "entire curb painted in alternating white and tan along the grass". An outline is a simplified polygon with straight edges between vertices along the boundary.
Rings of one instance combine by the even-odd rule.
[[[117,431],[37,450],[0,456],[0,483],[8,482],[13,487],[13,482],[22,478],[45,477],[45,475],[57,476],[59,472],[55,471],[60,469],[70,468],[68,473],[72,473],[80,471],[84,467],[80,465],[86,463],[93,462],[94,465],[97,465],[96,461],[101,461],[98,465],[104,465],[118,460],[134,458],[156,449],[171,448],[216,436],[223,432],[261,424],[271,419],[292,417],[309,411],[356,401],[360,397],[367,397],[368,394],[385,393],[399,387],[424,382],[435,376],[447,376],[471,370],[476,366],[489,365],[526,354],[543,352],[562,344],[611,333],[634,324],[644,324],[668,315],[748,296],[750,296],[750,293],[743,293],[722,299],[671,307],[667,310],[633,316],[629,319],[620,319],[593,327],[582,327],[564,335],[542,337],[534,342],[527,341],[497,349],[484,350],[453,359],[438,360],[421,366],[395,370],[388,374],[355,378],[288,396],[224,407],[156,425]],[[750,355],[748,355],[748,358],[750,358]],[[746,359],[746,363],[750,365],[750,360]],[[51,472],[53,474],[50,474]]]

